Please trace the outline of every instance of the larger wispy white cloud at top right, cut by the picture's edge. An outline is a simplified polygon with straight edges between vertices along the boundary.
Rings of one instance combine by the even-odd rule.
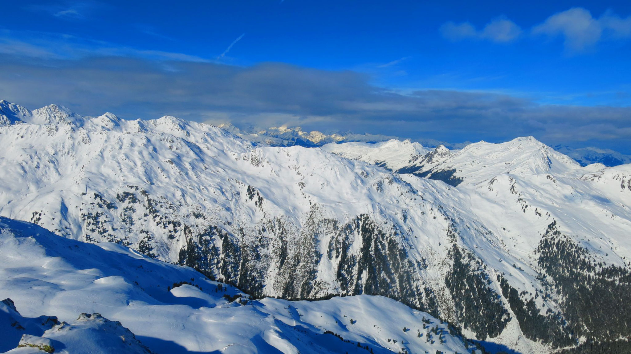
[[[582,52],[596,45],[603,38],[631,37],[631,16],[620,18],[611,12],[594,18],[584,8],[571,8],[553,14],[540,25],[533,27],[534,35],[562,36],[565,50]]]

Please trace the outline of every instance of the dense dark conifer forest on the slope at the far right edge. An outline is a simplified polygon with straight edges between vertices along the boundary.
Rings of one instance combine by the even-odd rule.
[[[548,226],[537,251],[539,265],[561,295],[570,328],[576,336],[587,338],[584,348],[621,345],[613,341],[631,335],[630,271],[594,260],[587,249],[558,231],[556,221]]]

